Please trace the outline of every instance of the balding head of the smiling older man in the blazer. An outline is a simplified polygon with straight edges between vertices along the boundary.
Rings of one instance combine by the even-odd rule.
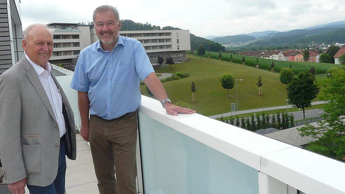
[[[24,31],[22,47],[32,62],[44,67],[53,53],[53,35],[46,25],[30,25]]]

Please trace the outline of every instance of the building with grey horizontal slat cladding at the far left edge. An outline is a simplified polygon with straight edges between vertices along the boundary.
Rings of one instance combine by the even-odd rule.
[[[19,0],[0,0],[0,74],[24,55],[19,3]]]

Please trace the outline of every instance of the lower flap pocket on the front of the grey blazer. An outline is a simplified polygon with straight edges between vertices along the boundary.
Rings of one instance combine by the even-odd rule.
[[[22,145],[22,155],[27,174],[39,175],[42,172],[41,144]]]

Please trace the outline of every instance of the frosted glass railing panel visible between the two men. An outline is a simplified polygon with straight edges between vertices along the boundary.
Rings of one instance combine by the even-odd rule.
[[[74,122],[78,129],[80,129],[80,118],[79,118],[79,110],[78,110],[78,92],[77,90],[72,89],[69,87],[71,85],[71,80],[73,76],[57,76],[56,79],[58,80],[59,84],[61,85],[63,91],[65,92],[69,104],[72,107],[74,113]]]

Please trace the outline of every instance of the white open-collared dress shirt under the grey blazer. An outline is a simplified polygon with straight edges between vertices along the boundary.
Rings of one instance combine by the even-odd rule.
[[[66,133],[65,119],[63,118],[63,114],[62,114],[61,93],[58,87],[56,86],[53,78],[51,77],[51,74],[50,74],[51,67],[47,63],[45,65],[45,69],[43,69],[41,66],[32,62],[26,54],[25,54],[25,57],[28,59],[33,69],[36,71],[36,74],[38,78],[40,79],[44,90],[46,91],[51,107],[53,108],[56,121],[58,122],[60,138],[61,138]]]

